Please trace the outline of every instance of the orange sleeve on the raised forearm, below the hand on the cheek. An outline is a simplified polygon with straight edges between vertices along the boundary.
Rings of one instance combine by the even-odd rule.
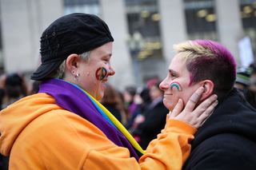
[[[190,142],[194,140],[196,128],[183,121],[169,120],[166,127],[146,148],[146,154],[139,160],[142,169],[182,169],[190,155]]]

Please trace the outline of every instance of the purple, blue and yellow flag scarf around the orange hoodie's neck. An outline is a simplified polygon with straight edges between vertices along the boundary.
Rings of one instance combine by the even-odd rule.
[[[59,79],[42,81],[38,93],[47,93],[55,98],[56,105],[85,118],[97,126],[109,140],[128,148],[130,156],[139,160],[144,151],[123,125],[98,101],[78,85]]]

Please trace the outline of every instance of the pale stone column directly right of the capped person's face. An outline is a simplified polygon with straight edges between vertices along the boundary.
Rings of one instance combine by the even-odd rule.
[[[111,64],[116,73],[109,78],[109,82],[122,90],[126,85],[135,85],[132,59],[126,45],[126,35],[129,32],[125,1],[101,0],[100,2],[102,4],[102,19],[109,26],[114,38]]]

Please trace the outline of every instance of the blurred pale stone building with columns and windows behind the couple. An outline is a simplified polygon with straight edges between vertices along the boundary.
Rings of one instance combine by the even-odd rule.
[[[222,43],[240,65],[238,42],[250,37],[256,53],[256,0],[1,0],[0,69],[30,75],[42,31],[64,14],[96,14],[114,37],[109,82],[123,89],[160,80],[173,44],[194,39]]]

